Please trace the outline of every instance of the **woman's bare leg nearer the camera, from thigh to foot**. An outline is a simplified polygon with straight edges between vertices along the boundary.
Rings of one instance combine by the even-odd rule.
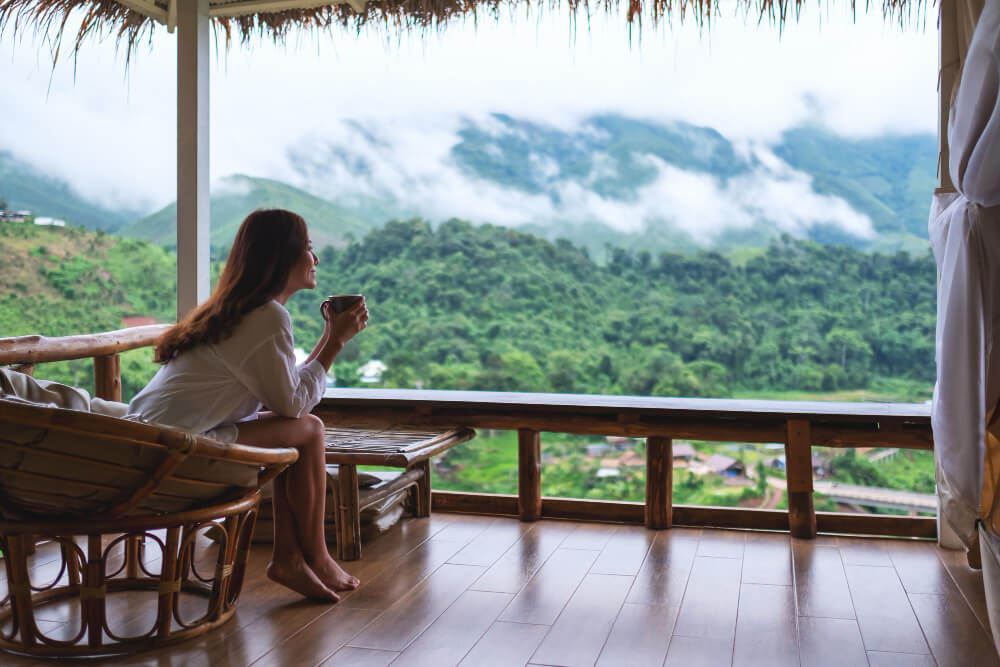
[[[295,508],[289,503],[289,480],[294,483],[293,473],[308,465],[309,461],[308,456],[303,456],[302,450],[308,450],[311,446],[309,432],[312,425],[302,424],[302,421],[276,417],[241,423],[238,426],[237,440],[249,445],[294,446],[299,449],[299,460],[274,480],[274,552],[267,566],[267,576],[306,597],[336,602],[340,597],[317,575],[303,553],[298,532],[300,522],[296,518]],[[320,496],[319,502],[323,501],[324,498]],[[302,513],[301,510],[299,513]]]

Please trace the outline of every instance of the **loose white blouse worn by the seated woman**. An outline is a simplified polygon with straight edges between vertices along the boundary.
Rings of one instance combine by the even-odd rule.
[[[296,366],[292,319],[277,301],[247,313],[226,340],[171,359],[129,403],[128,418],[236,440],[235,424],[266,407],[301,417],[326,390],[326,370]]]

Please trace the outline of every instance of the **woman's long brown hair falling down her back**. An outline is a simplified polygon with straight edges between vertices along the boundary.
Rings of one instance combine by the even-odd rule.
[[[229,338],[244,315],[281,293],[308,248],[302,216],[280,208],[248,215],[212,296],[160,337],[156,361],[165,364],[200,343]]]

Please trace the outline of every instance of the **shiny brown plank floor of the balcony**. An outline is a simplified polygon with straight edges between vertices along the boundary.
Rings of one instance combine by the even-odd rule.
[[[927,543],[438,513],[366,545],[336,605],[268,553],[226,626],[107,664],[1000,666],[981,575]]]

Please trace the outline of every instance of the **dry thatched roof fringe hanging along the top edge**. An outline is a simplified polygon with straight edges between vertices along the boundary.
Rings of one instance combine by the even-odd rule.
[[[821,0],[817,0],[821,1]],[[850,2],[856,0],[829,0]],[[156,24],[173,30],[178,0],[0,0],[0,34],[25,29],[41,33],[58,45],[73,13],[80,17],[74,48],[89,36],[114,36],[131,52],[148,37]],[[455,17],[499,18],[521,7],[565,4],[574,13],[618,12],[627,4],[629,23],[693,20],[710,25],[725,0],[210,0],[209,15],[227,44],[254,36],[283,40],[295,28],[361,28],[365,24],[407,30],[433,28]],[[735,0],[736,7],[752,19],[785,23],[796,18],[805,0]],[[866,0],[865,9],[881,8],[886,19],[905,21],[920,13],[924,0]],[[751,23],[752,25],[753,23]],[[58,47],[56,49],[58,51]]]

